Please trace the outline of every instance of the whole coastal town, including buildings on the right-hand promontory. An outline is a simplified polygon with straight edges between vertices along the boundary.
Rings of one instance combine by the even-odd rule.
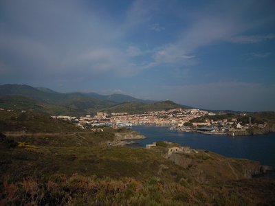
[[[175,108],[168,111],[151,111],[142,114],[129,113],[105,113],[98,112],[94,117],[52,116],[54,119],[63,119],[74,122],[80,128],[111,126],[113,128],[131,127],[136,125],[167,126],[171,130],[179,130],[192,133],[205,133],[215,135],[245,135],[250,128],[265,128],[265,122],[252,122],[252,118],[246,113],[238,114],[245,117],[247,122],[238,121],[236,117],[226,117],[227,113],[212,113],[197,108]],[[223,119],[217,117],[223,116]],[[224,117],[225,116],[225,117]],[[203,117],[203,121],[199,120]],[[215,118],[214,118],[215,117]]]

